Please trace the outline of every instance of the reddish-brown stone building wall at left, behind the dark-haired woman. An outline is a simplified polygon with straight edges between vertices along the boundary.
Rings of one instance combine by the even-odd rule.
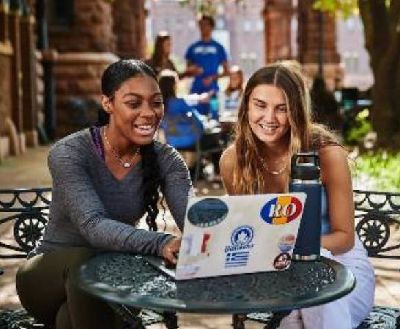
[[[0,163],[96,120],[104,67],[144,58],[144,1],[0,0]]]

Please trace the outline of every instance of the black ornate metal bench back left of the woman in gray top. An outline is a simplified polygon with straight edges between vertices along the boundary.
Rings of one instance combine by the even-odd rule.
[[[14,241],[0,241],[0,259],[25,258],[36,247],[47,225],[51,191],[51,188],[0,189],[0,229],[14,222]]]

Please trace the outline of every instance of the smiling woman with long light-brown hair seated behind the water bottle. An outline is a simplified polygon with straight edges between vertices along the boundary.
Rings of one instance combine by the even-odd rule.
[[[221,157],[221,177],[228,194],[284,193],[291,156],[319,153],[324,186],[321,254],[348,266],[357,285],[335,302],[293,310],[279,328],[356,328],[373,306],[373,266],[355,234],[346,151],[324,126],[311,121],[309,98],[298,65],[274,63],[256,71],[245,88],[234,144]]]

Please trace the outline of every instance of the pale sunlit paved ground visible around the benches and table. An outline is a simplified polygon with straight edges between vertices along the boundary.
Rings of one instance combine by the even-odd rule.
[[[47,170],[48,147],[41,146],[27,150],[19,158],[9,158],[0,165],[0,188],[50,186],[51,177]],[[196,185],[197,194],[221,195],[223,189],[218,183],[200,182]],[[170,225],[168,225],[170,226]],[[171,226],[170,229],[173,229]],[[395,228],[397,229],[397,228]],[[12,236],[10,229],[1,231],[0,238]],[[394,231],[395,240],[400,242],[400,230]],[[0,308],[18,308],[19,299],[16,297],[14,275],[20,260],[0,261],[5,269],[5,275],[0,277]],[[377,277],[375,304],[385,306],[400,306],[400,261],[374,261]],[[179,315],[180,328],[231,328],[231,318],[221,315]],[[162,325],[153,325],[151,329],[162,329]],[[259,324],[246,324],[246,328],[263,328]]]

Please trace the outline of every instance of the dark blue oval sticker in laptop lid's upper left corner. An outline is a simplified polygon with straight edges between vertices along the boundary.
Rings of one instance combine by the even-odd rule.
[[[188,210],[188,220],[197,227],[212,227],[221,223],[228,214],[227,204],[219,198],[205,198]]]

